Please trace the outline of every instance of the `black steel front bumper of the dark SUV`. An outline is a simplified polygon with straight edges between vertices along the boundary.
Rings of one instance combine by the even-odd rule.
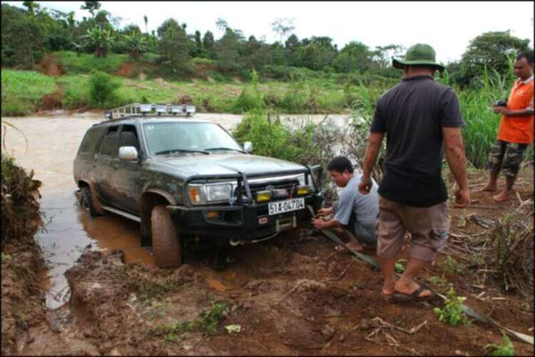
[[[315,211],[323,201],[321,194],[303,196],[305,206]],[[310,222],[310,211],[300,209],[270,216],[267,203],[235,206],[167,206],[181,233],[208,238],[255,241],[289,228],[303,227]],[[217,212],[217,213],[216,213]],[[212,216],[212,218],[210,218]]]

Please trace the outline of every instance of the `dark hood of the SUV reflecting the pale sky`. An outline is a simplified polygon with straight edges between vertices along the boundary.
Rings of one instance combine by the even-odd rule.
[[[168,156],[158,157],[155,161],[165,166],[173,166],[173,169],[178,169],[188,176],[237,174],[238,172],[256,176],[305,169],[305,166],[290,161],[245,154]]]

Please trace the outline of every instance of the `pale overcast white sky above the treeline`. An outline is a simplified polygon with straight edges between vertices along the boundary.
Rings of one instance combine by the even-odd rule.
[[[75,11],[75,18],[90,16],[83,1],[36,1],[41,7]],[[22,7],[22,1],[2,1]],[[187,24],[186,31],[215,39],[223,35],[215,22],[225,19],[247,38],[279,39],[272,31],[277,18],[291,19],[299,39],[329,36],[338,49],[350,41],[375,46],[425,43],[434,47],[444,64],[461,59],[469,42],[487,31],[511,30],[534,46],[534,1],[101,1],[101,9],[122,19],[121,26],[137,24],[156,30],[173,17]]]

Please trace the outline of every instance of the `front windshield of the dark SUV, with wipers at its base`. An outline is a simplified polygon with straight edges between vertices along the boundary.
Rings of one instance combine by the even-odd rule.
[[[172,123],[146,123],[143,130],[148,152],[155,154],[184,154],[201,152],[240,151],[243,149],[224,129],[213,123],[175,121]],[[217,148],[217,151],[213,150]]]

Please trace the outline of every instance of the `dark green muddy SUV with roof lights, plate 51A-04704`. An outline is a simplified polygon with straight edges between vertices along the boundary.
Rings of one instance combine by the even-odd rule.
[[[73,162],[81,205],[140,222],[160,267],[180,266],[187,247],[255,243],[310,222],[322,204],[320,166],[252,155],[250,142],[193,114],[175,104],[107,111]]]

